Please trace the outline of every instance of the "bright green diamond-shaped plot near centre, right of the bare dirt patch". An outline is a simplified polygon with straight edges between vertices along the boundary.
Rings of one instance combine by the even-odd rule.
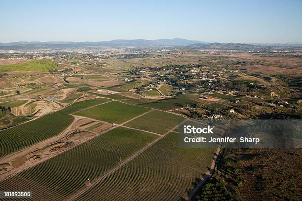
[[[148,111],[150,111],[149,108],[142,108],[118,101],[112,101],[78,112],[75,115],[100,121],[122,123]]]

